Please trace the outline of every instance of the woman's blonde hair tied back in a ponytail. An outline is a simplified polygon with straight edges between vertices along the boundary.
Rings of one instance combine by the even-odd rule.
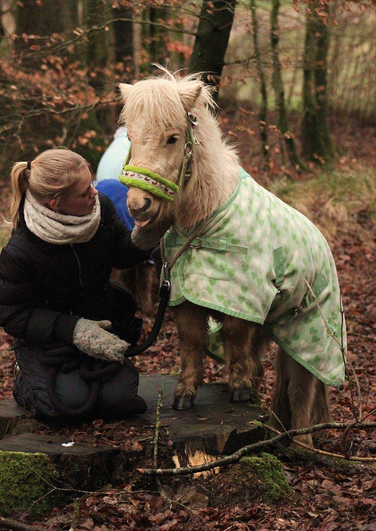
[[[29,166],[16,162],[11,172],[11,217],[15,227],[19,220],[19,208],[23,193],[29,189],[41,204],[56,199],[61,201],[81,179],[81,170],[90,169],[89,163],[69,149],[48,149],[36,157]]]

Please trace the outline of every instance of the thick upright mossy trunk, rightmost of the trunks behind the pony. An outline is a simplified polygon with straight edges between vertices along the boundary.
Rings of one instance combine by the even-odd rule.
[[[304,43],[302,152],[305,158],[330,162],[335,156],[335,144],[328,125],[327,58],[329,29],[318,16],[317,9],[327,15],[329,6],[310,0],[306,19]],[[328,18],[326,17],[326,22]]]

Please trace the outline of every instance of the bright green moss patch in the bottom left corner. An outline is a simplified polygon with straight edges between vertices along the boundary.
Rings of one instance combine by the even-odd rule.
[[[46,496],[57,472],[44,453],[0,452],[0,515],[21,512],[31,506],[32,516],[44,515],[54,507]],[[33,505],[34,502],[39,500]]]

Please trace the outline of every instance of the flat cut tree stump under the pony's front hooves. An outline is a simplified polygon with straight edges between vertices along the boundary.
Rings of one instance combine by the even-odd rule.
[[[139,422],[155,424],[158,389],[162,389],[160,425],[168,429],[176,466],[201,464],[260,439],[259,427],[249,422],[262,422],[262,412],[248,402],[230,402],[227,384],[204,384],[198,389],[193,408],[185,411],[171,407],[176,385],[177,377],[169,374],[140,375],[139,395],[146,400],[148,411]]]

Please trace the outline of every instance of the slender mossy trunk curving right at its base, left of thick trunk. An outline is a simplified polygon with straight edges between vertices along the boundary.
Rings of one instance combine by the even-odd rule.
[[[270,13],[270,37],[271,37],[271,53],[273,61],[272,85],[275,92],[276,107],[278,112],[278,128],[280,134],[283,136],[286,145],[286,151],[291,165],[300,170],[304,167],[300,157],[298,156],[295,141],[292,133],[288,130],[288,118],[285,106],[285,92],[283,88],[281,65],[278,57],[278,41],[279,41],[279,27],[278,27],[278,10],[279,0],[272,0]],[[281,143],[281,155],[283,156],[283,145]]]

